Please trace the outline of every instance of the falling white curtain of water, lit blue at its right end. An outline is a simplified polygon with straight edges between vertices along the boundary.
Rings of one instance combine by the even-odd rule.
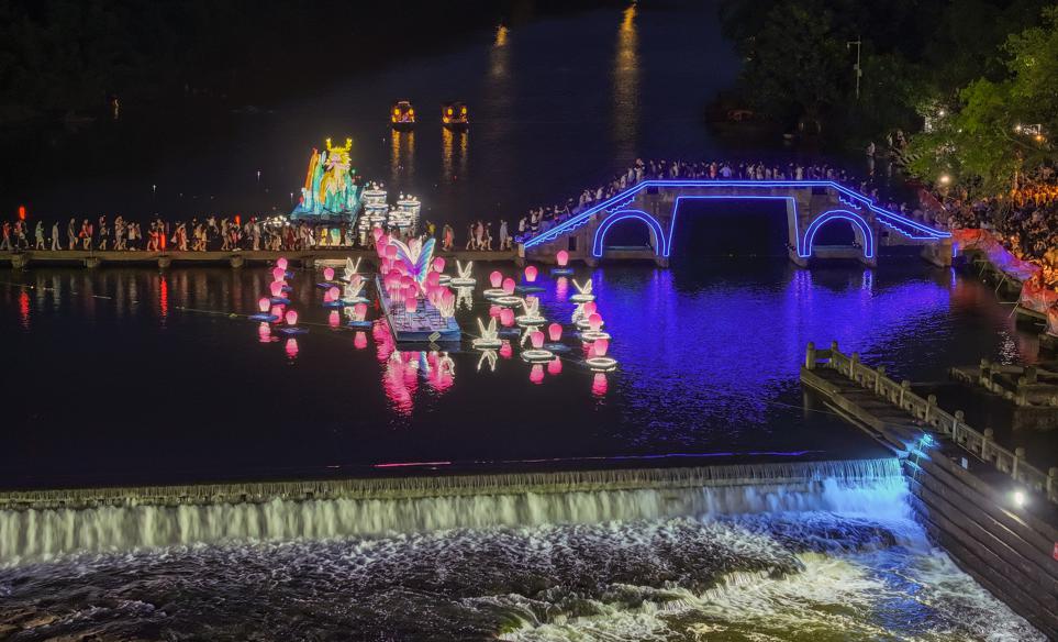
[[[608,490],[608,473],[590,478],[597,490],[490,492],[488,478],[475,492],[403,498],[271,499],[255,503],[99,506],[0,510],[0,562],[48,560],[83,552],[116,552],[232,541],[326,540],[456,528],[599,523],[683,516],[825,510],[880,516],[905,510],[895,460],[822,462],[704,468],[716,486],[688,485],[688,469],[647,479],[653,487]],[[627,471],[609,474],[628,484]],[[769,483],[769,477],[784,479]],[[751,484],[749,482],[757,479]],[[415,480],[423,484],[423,480]],[[646,483],[646,482],[644,482]],[[583,484],[580,483],[582,486]],[[421,490],[417,491],[422,494]]]

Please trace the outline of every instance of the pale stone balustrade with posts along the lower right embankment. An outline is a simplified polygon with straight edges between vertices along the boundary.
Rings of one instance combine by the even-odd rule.
[[[992,429],[981,432],[972,428],[964,420],[961,410],[950,413],[938,407],[936,395],[923,398],[911,389],[911,381],[896,383],[888,377],[886,366],[872,368],[865,365],[860,363],[858,353],[842,353],[837,342],[832,343],[828,350],[817,350],[814,343],[809,343],[804,366],[810,370],[825,367],[844,375],[865,390],[904,410],[923,427],[948,438],[981,462],[993,464],[996,471],[1058,503],[1058,467],[1044,472],[1029,464],[1025,461],[1025,449],[1011,451],[995,443]]]

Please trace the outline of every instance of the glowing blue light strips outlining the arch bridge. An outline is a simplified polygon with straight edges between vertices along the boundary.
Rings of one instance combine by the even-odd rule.
[[[592,215],[600,212],[603,213],[603,219],[595,230],[594,237],[592,240],[592,251],[591,254],[595,258],[601,258],[605,250],[603,241],[605,240],[605,234],[609,232],[610,228],[614,223],[622,220],[636,219],[641,220],[647,224],[650,229],[650,233],[655,236],[655,253],[658,256],[665,258],[669,257],[672,248],[672,233],[676,229],[676,219],[679,212],[680,202],[683,199],[716,199],[716,200],[786,200],[788,202],[793,202],[793,213],[797,218],[797,200],[789,196],[747,196],[747,195],[724,195],[724,196],[679,196],[676,198],[673,203],[672,213],[669,217],[668,231],[666,233],[665,225],[661,224],[657,218],[644,212],[641,209],[623,209],[624,204],[630,203],[638,192],[644,189],[651,187],[656,188],[750,188],[750,189],[811,189],[815,187],[824,187],[833,189],[837,192],[838,200],[847,206],[847,209],[831,209],[827,210],[814,219],[812,219],[809,228],[802,234],[800,228],[797,231],[797,252],[798,256],[801,258],[809,258],[812,254],[812,250],[815,241],[815,233],[825,223],[834,220],[846,220],[853,224],[854,232],[857,232],[864,242],[864,255],[866,258],[873,258],[873,239],[875,232],[871,229],[870,223],[861,214],[854,210],[862,211],[865,208],[870,211],[875,219],[888,225],[905,236],[917,240],[917,241],[939,241],[942,239],[947,239],[950,236],[949,233],[935,230],[928,225],[924,225],[916,221],[913,221],[902,214],[891,212],[883,208],[876,206],[869,198],[858,193],[840,184],[831,180],[644,180],[638,185],[635,185],[600,203],[597,203],[587,210],[575,214],[567,221],[564,221],[559,225],[547,230],[541,234],[537,234],[533,239],[525,241],[523,247],[528,250],[536,245],[547,243],[558,239],[560,235],[571,232],[572,230],[587,223]],[[613,209],[613,211],[610,211]],[[909,230],[903,230],[900,226],[910,228]]]

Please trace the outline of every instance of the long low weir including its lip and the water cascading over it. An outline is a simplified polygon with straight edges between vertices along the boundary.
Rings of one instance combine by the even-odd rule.
[[[0,562],[241,540],[680,516],[895,512],[895,457],[681,468],[210,484],[0,495]]]

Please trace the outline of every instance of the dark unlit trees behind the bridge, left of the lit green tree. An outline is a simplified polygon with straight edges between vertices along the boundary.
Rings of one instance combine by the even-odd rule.
[[[745,57],[743,99],[783,126],[869,139],[915,131],[979,77],[1006,74],[1002,45],[1054,0],[722,0]],[[855,98],[861,41],[860,98]]]

